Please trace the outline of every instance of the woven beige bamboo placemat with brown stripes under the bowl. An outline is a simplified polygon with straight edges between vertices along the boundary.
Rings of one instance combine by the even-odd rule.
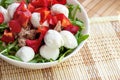
[[[26,70],[0,59],[1,80],[120,80],[120,18],[91,19],[90,37],[69,60],[47,69]]]

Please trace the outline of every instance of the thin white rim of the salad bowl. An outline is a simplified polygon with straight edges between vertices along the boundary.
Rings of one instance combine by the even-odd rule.
[[[85,9],[83,8],[83,6],[80,4],[79,1],[77,1],[77,0],[74,0],[74,1],[75,1],[75,3],[77,3],[80,6],[82,12],[84,13],[84,16],[86,18],[86,26],[87,26],[85,34],[89,34],[90,26],[89,26],[89,18],[88,18],[87,12],[85,11]],[[70,58],[71,56],[73,56],[75,53],[77,53],[83,47],[85,42],[86,42],[86,40],[81,42],[79,44],[79,46],[71,54],[69,54],[68,56],[64,57],[60,62],[58,60],[56,60],[56,61],[53,61],[53,62],[45,62],[45,63],[26,63],[26,62],[13,60],[13,59],[8,58],[7,56],[4,56],[2,54],[0,54],[0,58],[2,58],[3,60],[5,60],[7,62],[10,61],[10,62],[14,62],[14,63],[19,63],[21,65],[35,65],[35,66],[42,65],[42,66],[44,66],[44,65],[54,64],[54,63],[61,63],[61,62],[65,61],[65,60],[67,60],[68,58]],[[8,62],[8,63],[10,63],[10,62]]]

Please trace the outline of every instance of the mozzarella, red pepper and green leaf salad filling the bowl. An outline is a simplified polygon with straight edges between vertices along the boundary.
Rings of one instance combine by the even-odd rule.
[[[89,37],[81,32],[78,11],[66,0],[1,0],[0,54],[31,63],[60,61]]]

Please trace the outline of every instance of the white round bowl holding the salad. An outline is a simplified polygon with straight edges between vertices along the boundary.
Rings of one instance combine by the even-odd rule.
[[[85,24],[86,28],[84,29],[84,31],[82,33],[83,34],[89,34],[89,20],[88,20],[88,16],[87,16],[87,13],[86,13],[85,9],[82,7],[82,5],[77,0],[67,0],[67,3],[68,4],[73,4],[73,5],[79,5],[81,7],[81,13],[78,12],[76,16],[77,16],[77,18],[81,19]],[[80,48],[83,47],[85,41],[83,41],[81,44],[79,44],[79,46],[70,55],[63,58],[61,62],[67,60],[68,58],[73,56],[75,53],[77,53],[80,50]],[[0,54],[0,58],[2,58],[3,60],[5,60],[6,62],[8,62],[12,65],[22,67],[22,68],[27,68],[27,69],[48,68],[48,67],[51,67],[51,66],[54,66],[54,65],[60,63],[58,61],[47,62],[47,63],[25,63],[25,62],[20,62],[20,61],[10,59],[10,58],[2,55],[2,54]]]

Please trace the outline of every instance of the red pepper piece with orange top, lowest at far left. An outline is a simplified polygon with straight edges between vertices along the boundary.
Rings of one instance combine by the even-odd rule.
[[[5,30],[1,40],[6,43],[14,42],[14,35],[12,32]]]

